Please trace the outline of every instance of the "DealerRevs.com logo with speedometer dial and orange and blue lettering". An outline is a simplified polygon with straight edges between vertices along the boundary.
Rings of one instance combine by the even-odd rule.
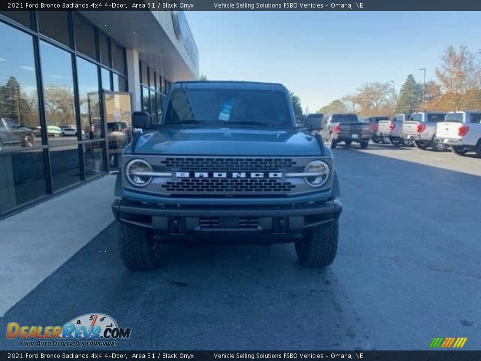
[[[129,327],[121,328],[112,317],[101,313],[84,314],[63,326],[7,324],[7,338],[19,339],[26,347],[117,346],[118,340],[130,337],[130,332]]]

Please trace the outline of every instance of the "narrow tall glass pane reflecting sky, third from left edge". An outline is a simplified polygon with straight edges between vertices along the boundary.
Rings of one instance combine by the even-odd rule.
[[[102,138],[97,66],[77,57],[82,139]]]

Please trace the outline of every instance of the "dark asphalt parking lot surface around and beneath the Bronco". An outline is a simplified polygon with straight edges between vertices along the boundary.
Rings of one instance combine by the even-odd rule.
[[[423,350],[434,337],[480,349],[481,159],[376,144],[334,154],[344,212],[327,269],[302,268],[290,244],[217,245],[165,246],[160,268],[131,272],[112,224],[0,326],[102,312],[132,328],[118,349]]]

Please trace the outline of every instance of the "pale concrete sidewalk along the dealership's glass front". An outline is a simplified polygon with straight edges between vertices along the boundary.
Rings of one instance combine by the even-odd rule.
[[[112,223],[114,185],[106,175],[0,221],[0,317]]]

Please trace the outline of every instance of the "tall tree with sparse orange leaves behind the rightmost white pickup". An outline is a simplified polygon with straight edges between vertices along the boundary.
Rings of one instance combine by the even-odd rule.
[[[466,95],[478,86],[475,56],[465,46],[456,52],[449,45],[441,58],[441,66],[435,69],[441,90],[444,93],[442,106],[450,110],[460,110],[469,104]]]

